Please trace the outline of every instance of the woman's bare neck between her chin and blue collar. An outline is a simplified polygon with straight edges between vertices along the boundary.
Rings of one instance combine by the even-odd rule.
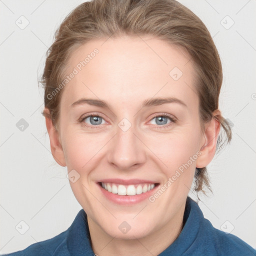
[[[150,234],[137,239],[118,239],[108,235],[102,228],[87,216],[91,238],[91,247],[98,256],[158,255],[166,249],[179,235],[183,228],[185,204],[180,211],[166,224]]]

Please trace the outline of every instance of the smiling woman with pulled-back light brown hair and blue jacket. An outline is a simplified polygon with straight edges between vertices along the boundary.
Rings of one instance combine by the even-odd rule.
[[[8,255],[255,255],[188,197],[231,139],[212,38],[174,0],[93,0],[62,22],[42,76],[51,152],[82,206]]]

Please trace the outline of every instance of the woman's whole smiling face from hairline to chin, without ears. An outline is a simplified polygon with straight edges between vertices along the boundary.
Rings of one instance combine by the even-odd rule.
[[[59,141],[75,176],[72,191],[95,228],[125,239],[182,215],[205,142],[189,56],[141,38],[80,46],[66,74],[78,72],[60,101]]]

